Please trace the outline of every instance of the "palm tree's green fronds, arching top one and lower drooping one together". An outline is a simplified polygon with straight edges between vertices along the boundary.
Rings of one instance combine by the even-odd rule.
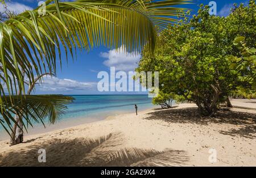
[[[66,59],[69,54],[74,59],[77,49],[90,50],[100,45],[111,49],[122,45],[126,52],[139,53],[142,49],[154,52],[163,29],[187,11],[174,6],[189,2],[48,0],[45,7],[0,23],[0,123],[10,134],[11,123],[17,124],[14,113],[32,125],[32,120],[43,122],[47,115],[53,119],[55,112],[64,111],[64,104],[72,98],[24,95],[25,77],[31,85],[35,76],[56,73],[56,58],[62,61],[61,46]],[[49,97],[51,101],[47,101]]]

